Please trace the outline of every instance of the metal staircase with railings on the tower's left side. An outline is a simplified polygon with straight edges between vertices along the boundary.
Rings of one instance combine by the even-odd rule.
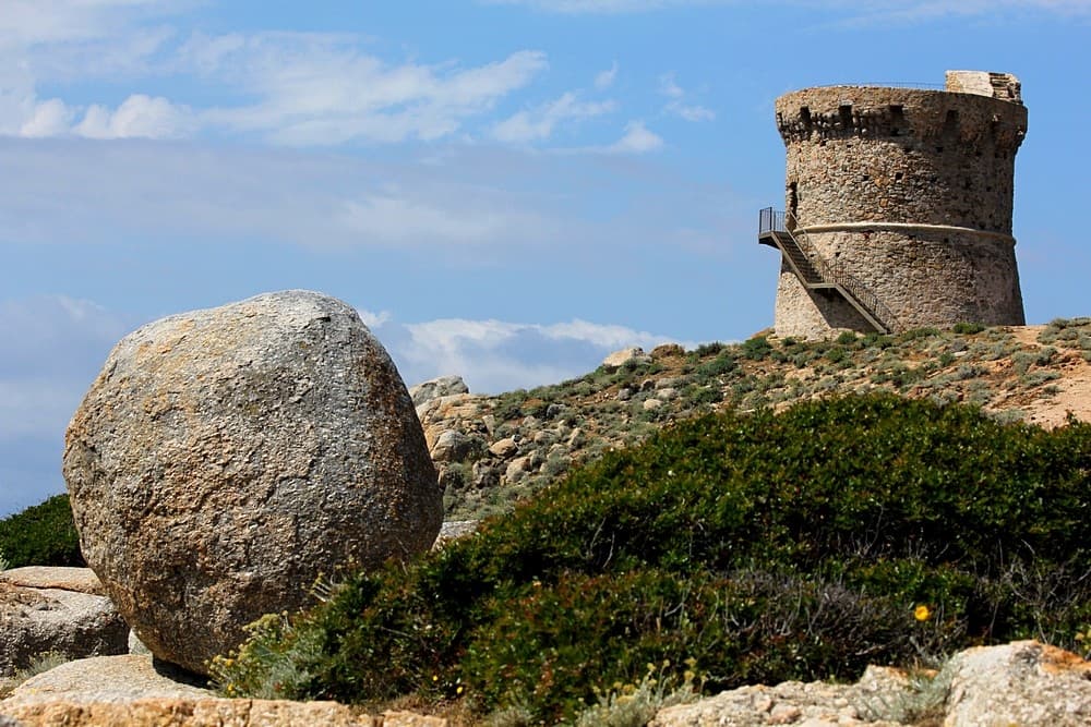
[[[796,229],[795,233],[788,229],[789,221]],[[791,213],[772,207],[763,209],[758,217],[757,241],[779,250],[807,290],[832,291],[848,301],[876,331],[889,334],[894,330],[892,326],[897,323],[894,313],[840,263],[830,264],[823,259],[806,232],[798,229]]]

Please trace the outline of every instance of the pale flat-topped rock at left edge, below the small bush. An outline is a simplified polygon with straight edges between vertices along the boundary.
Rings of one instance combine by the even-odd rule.
[[[123,654],[129,627],[84,568],[15,568],[0,573],[0,677],[45,653]]]

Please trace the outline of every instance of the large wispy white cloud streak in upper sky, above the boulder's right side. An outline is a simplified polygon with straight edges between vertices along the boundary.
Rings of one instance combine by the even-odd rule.
[[[205,123],[286,145],[441,138],[547,68],[546,56],[532,50],[466,69],[387,65],[357,45],[335,35],[232,35],[197,37],[183,54],[194,68],[260,99],[205,109]]]

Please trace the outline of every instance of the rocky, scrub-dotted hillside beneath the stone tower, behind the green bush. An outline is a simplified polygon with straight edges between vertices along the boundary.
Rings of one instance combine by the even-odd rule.
[[[800,341],[760,332],[693,351],[667,344],[614,355],[579,378],[418,407],[445,488],[447,520],[502,511],[573,464],[710,411],[891,391],[981,407],[1044,427],[1091,420],[1091,318],[1047,325]]]

